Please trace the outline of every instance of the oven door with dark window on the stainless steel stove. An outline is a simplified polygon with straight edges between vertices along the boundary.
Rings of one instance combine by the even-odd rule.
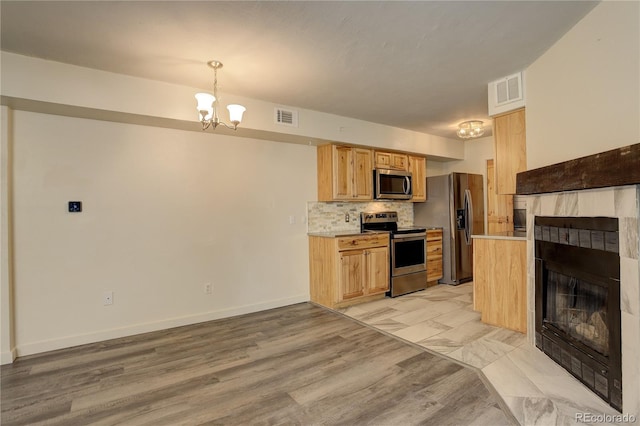
[[[394,234],[391,238],[391,275],[398,276],[427,270],[427,236],[425,232]]]

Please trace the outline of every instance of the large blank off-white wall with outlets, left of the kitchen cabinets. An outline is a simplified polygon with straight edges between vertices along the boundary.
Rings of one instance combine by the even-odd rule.
[[[18,355],[308,300],[315,147],[13,115]]]

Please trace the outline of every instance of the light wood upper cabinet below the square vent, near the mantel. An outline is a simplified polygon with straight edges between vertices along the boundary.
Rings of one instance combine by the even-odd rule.
[[[524,108],[493,118],[495,186],[498,194],[516,193],[516,174],[527,170]]]

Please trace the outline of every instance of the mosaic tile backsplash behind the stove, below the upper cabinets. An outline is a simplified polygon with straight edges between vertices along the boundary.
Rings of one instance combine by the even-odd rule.
[[[359,231],[360,212],[398,212],[398,226],[413,225],[413,203],[372,201],[370,203],[319,202],[307,203],[308,232]],[[345,220],[349,217],[349,221]]]

